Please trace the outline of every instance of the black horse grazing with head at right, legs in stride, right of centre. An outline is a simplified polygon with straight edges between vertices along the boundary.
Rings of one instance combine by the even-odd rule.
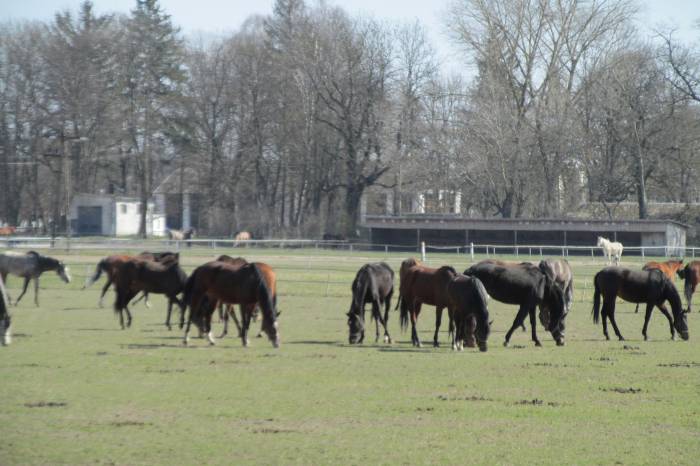
[[[539,267],[527,262],[518,264],[485,260],[465,270],[464,275],[481,280],[488,294],[495,300],[520,306],[513,325],[506,333],[503,346],[508,346],[511,335],[516,328],[523,325],[528,314],[532,327],[532,341],[535,342],[535,346],[542,346],[537,338],[537,306],[548,316],[548,325],[545,328],[552,334],[557,346],[564,345],[564,291]]]

